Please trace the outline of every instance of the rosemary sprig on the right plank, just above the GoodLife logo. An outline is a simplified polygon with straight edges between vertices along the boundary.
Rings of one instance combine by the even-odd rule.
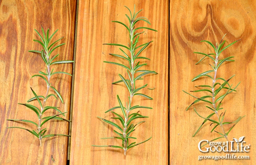
[[[187,107],[186,111],[192,105],[194,105],[195,103],[200,102],[200,101],[207,103],[208,105],[206,106],[206,108],[208,108],[209,110],[213,111],[213,113],[209,114],[207,117],[203,117],[194,108],[195,113],[198,116],[200,116],[201,118],[203,118],[204,121],[201,124],[201,126],[197,129],[197,131],[195,132],[193,137],[198,133],[198,131],[201,129],[201,127],[203,126],[204,123],[206,123],[207,121],[210,121],[211,122],[210,125],[214,125],[213,129],[211,130],[211,132],[214,131],[214,132],[218,133],[219,135],[221,135],[221,136],[219,136],[219,137],[217,137],[217,138],[215,138],[215,139],[213,139],[211,141],[214,141],[214,140],[219,139],[219,138],[226,138],[227,141],[229,141],[229,139],[228,139],[229,132],[244,117],[244,116],[243,117],[240,116],[240,117],[238,117],[237,120],[235,120],[233,122],[224,122],[223,120],[224,120],[224,116],[226,114],[226,111],[224,111],[224,113],[223,112],[220,113],[220,110],[223,109],[223,108],[221,108],[221,105],[223,103],[223,99],[228,94],[230,94],[230,93],[232,93],[234,91],[236,92],[236,88],[240,84],[240,83],[238,83],[235,87],[232,87],[232,84],[229,84],[230,79],[233,78],[235,75],[231,76],[227,80],[225,80],[224,78],[221,78],[221,77],[217,78],[217,72],[218,72],[218,69],[219,69],[219,67],[221,65],[223,65],[225,62],[234,62],[235,61],[235,60],[232,59],[232,58],[234,58],[233,56],[226,57],[226,58],[223,58],[223,59],[219,59],[219,55],[221,54],[222,51],[227,49],[229,46],[232,46],[234,43],[238,42],[238,40],[236,40],[235,42],[232,42],[229,45],[227,45],[224,48],[222,48],[224,43],[226,42],[226,40],[223,40],[224,36],[222,37],[221,42],[219,44],[216,43],[216,47],[211,42],[209,42],[207,40],[201,41],[201,42],[206,42],[210,46],[212,46],[212,48],[214,49],[215,53],[205,54],[205,53],[202,53],[202,52],[194,52],[194,53],[197,53],[197,54],[204,55],[204,57],[201,58],[201,60],[199,60],[196,63],[196,65],[199,64],[206,57],[210,58],[213,61],[213,64],[209,64],[211,66],[212,70],[209,70],[209,71],[206,71],[206,72],[203,72],[203,73],[197,75],[196,77],[194,77],[192,79],[192,81],[196,81],[196,80],[198,80],[201,77],[209,77],[210,79],[212,79],[212,84],[211,84],[211,86],[210,85],[196,86],[197,88],[200,88],[200,89],[199,90],[190,91],[190,92],[194,92],[194,93],[206,92],[206,93],[209,93],[209,95],[205,95],[205,96],[202,96],[202,97],[197,97],[197,96],[191,95],[190,93],[185,92],[183,90],[183,92],[185,92],[188,95],[196,98],[196,100],[192,104],[190,104],[189,107]],[[211,75],[211,74],[213,74],[213,75]],[[216,115],[218,120],[213,120],[212,119],[212,116],[214,114]],[[228,130],[225,130],[224,129],[224,125],[226,125],[226,124],[232,124],[232,127],[230,127],[230,129],[228,129]],[[218,126],[220,127],[221,132],[218,132],[218,131],[215,130],[215,128],[218,127]]]

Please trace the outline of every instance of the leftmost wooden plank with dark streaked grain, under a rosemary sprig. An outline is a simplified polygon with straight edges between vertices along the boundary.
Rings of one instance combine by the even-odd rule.
[[[54,164],[52,156],[55,164],[66,164],[67,137],[43,139],[43,146],[40,147],[38,139],[29,132],[6,129],[9,126],[35,129],[34,127],[30,124],[13,123],[6,119],[37,121],[34,112],[17,104],[26,103],[32,98],[30,87],[40,95],[46,92],[45,82],[36,77],[31,78],[32,75],[38,74],[38,71],[44,71],[40,55],[28,52],[41,49],[40,45],[33,41],[33,39],[40,39],[34,29],[41,33],[42,25],[45,30],[50,28],[50,34],[59,29],[53,39],[64,36],[59,43],[66,43],[66,45],[56,49],[55,54],[60,54],[57,60],[72,60],[75,11],[76,2],[73,0],[0,1],[0,164],[49,165]],[[72,65],[58,65],[55,71],[72,73]],[[61,111],[70,109],[71,80],[72,78],[68,75],[58,75],[52,79],[52,85],[62,94],[64,104],[59,100],[57,102],[52,100],[51,105],[59,106]],[[52,112],[48,113],[48,115],[52,114]],[[66,118],[69,118],[69,113],[66,114]],[[52,121],[46,126],[47,133],[67,134],[68,126],[66,122]]]

